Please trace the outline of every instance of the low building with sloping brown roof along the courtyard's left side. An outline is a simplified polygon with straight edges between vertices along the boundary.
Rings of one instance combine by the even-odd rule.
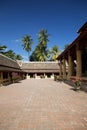
[[[23,79],[23,72],[17,61],[0,54],[0,85]]]

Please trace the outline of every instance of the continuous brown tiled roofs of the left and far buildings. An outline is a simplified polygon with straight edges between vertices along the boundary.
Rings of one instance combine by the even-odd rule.
[[[0,54],[0,70],[30,73],[59,72],[58,62],[18,62]]]

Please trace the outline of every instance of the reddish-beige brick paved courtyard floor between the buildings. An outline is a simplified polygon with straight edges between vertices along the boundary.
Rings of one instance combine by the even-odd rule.
[[[52,79],[0,87],[0,130],[87,130],[87,93]]]

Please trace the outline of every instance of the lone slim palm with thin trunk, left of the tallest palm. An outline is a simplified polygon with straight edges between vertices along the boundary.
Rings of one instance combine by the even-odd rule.
[[[28,58],[29,58],[29,52],[31,51],[31,45],[33,43],[33,40],[31,38],[31,36],[29,35],[26,35],[22,38],[22,46],[23,46],[23,49],[25,49],[25,51],[28,52]]]

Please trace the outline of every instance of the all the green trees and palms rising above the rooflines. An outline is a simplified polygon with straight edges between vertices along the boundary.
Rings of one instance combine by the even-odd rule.
[[[33,39],[30,35],[25,35],[22,37],[22,47],[28,53],[28,59],[30,61],[56,61],[60,50],[57,45],[54,45],[52,48],[48,49],[49,36],[47,29],[41,29],[37,35],[38,43],[34,51],[30,55],[32,50]],[[68,46],[65,45],[65,48]],[[22,60],[23,57],[19,54],[16,54],[13,50],[8,50],[6,45],[0,45],[0,53],[10,57],[14,60]]]

